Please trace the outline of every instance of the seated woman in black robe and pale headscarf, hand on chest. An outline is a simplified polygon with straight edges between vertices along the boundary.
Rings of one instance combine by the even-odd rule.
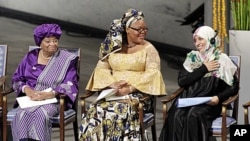
[[[193,34],[197,51],[191,51],[178,75],[184,91],[179,98],[212,97],[206,104],[177,108],[172,104],[159,141],[208,141],[212,121],[220,116],[222,102],[239,90],[237,67],[220,52],[217,33],[201,26]]]

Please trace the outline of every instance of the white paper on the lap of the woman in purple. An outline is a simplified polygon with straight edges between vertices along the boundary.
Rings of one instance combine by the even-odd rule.
[[[50,91],[52,91],[52,88],[48,88],[44,90],[44,92],[50,92]],[[56,98],[51,98],[51,99],[46,99],[46,100],[41,100],[41,101],[33,101],[28,96],[17,97],[16,100],[21,108],[34,107],[34,106],[57,102]]]

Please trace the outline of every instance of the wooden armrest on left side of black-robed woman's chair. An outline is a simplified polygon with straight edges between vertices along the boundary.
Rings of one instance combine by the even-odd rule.
[[[162,105],[162,114],[163,114],[163,121],[165,121],[168,115],[168,103],[173,101],[180,93],[184,90],[184,88],[178,88],[174,93],[169,96],[166,96],[164,99],[161,100]]]

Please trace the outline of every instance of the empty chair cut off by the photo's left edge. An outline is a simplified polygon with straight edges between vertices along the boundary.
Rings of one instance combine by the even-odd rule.
[[[7,56],[8,56],[8,48],[7,45],[0,45],[0,92],[4,90],[4,84],[5,84],[5,72],[6,72],[6,62],[7,62]],[[3,117],[3,111],[2,111],[2,101],[3,101],[3,96],[0,94],[0,118],[1,118],[1,127],[0,127],[0,134],[2,135],[2,117]]]

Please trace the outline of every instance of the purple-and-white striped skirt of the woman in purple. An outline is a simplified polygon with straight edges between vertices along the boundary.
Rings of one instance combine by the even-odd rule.
[[[49,117],[59,112],[57,104],[47,104],[38,107],[18,108],[11,122],[13,141],[35,139],[50,141],[52,124]]]

